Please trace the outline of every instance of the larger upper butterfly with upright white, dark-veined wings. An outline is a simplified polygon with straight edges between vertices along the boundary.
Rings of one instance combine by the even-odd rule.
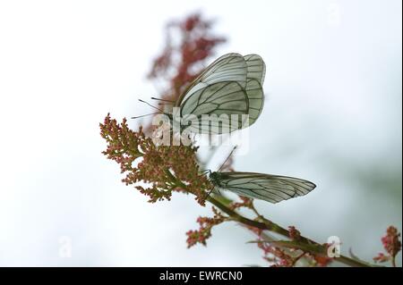
[[[262,113],[265,72],[258,54],[225,54],[185,88],[174,105],[177,114],[168,116],[181,130],[200,134],[248,127]]]

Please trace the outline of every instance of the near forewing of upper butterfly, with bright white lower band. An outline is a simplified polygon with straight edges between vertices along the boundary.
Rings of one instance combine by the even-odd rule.
[[[247,64],[241,54],[224,54],[193,80],[192,84],[184,90],[182,96],[177,100],[176,106],[181,106],[189,96],[193,96],[195,92],[217,82],[236,81],[242,88],[245,88],[246,74]]]

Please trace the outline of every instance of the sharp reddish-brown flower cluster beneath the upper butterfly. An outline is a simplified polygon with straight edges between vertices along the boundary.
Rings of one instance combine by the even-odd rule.
[[[99,126],[102,138],[107,140],[107,150],[102,153],[120,164],[126,185],[139,181],[150,184],[135,186],[150,197],[150,202],[169,200],[172,191],[181,191],[194,194],[199,204],[204,205],[205,190],[212,186],[199,172],[197,147],[156,146],[141,127],[139,131],[130,130],[125,119],[119,124],[109,114]]]

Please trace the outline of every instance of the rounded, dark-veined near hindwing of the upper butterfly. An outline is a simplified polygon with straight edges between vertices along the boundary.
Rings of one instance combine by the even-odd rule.
[[[242,115],[248,113],[248,102],[245,89],[238,82],[217,82],[188,96],[181,105],[181,117],[195,116],[194,122],[190,120],[192,125],[186,129],[191,132],[227,133],[242,128]],[[210,120],[206,121],[203,115],[209,115]],[[231,115],[236,117],[231,118]]]

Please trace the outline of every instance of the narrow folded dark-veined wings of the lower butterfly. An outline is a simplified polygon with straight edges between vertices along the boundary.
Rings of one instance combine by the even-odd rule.
[[[308,180],[254,172],[213,172],[212,175],[211,181],[218,189],[270,203],[304,196],[316,187]]]

